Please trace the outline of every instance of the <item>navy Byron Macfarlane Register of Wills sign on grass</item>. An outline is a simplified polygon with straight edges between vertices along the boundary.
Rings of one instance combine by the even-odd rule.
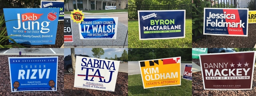
[[[140,40],[185,38],[185,11],[138,11]]]

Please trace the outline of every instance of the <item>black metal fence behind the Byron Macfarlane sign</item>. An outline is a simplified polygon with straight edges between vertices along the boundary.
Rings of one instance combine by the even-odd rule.
[[[186,18],[192,17],[192,5],[128,5],[128,20],[138,20],[138,10],[186,10]]]

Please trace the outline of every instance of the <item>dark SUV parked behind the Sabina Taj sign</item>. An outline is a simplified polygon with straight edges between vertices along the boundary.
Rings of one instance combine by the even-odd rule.
[[[75,54],[75,56],[91,57],[89,55],[82,55],[82,54]],[[65,56],[65,58],[64,58],[64,69],[67,70],[68,73],[73,72],[71,55]]]

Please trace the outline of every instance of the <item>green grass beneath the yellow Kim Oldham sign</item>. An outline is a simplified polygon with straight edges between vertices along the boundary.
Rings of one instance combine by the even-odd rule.
[[[128,96],[191,96],[192,81],[182,79],[180,86],[144,89],[141,74],[128,76]],[[170,89],[170,90],[159,90]]]

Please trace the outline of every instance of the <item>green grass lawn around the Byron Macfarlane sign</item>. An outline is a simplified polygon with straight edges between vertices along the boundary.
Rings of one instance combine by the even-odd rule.
[[[192,48],[192,19],[186,19],[185,38],[139,40],[138,21],[128,21],[128,48]]]

